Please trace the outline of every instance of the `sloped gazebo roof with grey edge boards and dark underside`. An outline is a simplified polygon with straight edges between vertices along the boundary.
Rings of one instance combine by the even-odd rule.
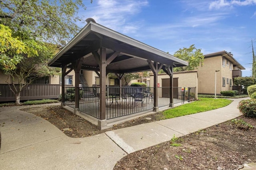
[[[86,26],[48,63],[52,67],[69,65],[82,58],[84,70],[100,71],[95,52],[100,53],[100,47],[106,48],[106,59],[113,57],[106,70],[112,73],[130,73],[151,70],[148,60],[163,64],[163,67],[180,67],[188,65],[183,61],[160,51],[154,47],[138,42],[118,32],[110,30],[95,22]]]

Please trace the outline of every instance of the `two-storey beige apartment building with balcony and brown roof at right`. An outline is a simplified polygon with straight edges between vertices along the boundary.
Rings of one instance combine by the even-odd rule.
[[[204,55],[202,67],[198,67],[198,93],[216,93],[232,90],[234,77],[242,77],[245,68],[233,57],[231,52],[219,51]]]

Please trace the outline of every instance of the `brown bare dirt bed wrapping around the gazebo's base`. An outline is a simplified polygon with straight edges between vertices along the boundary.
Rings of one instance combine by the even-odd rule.
[[[67,136],[72,138],[83,138],[87,136],[93,136],[96,134],[104,133],[109,130],[154,122],[160,120],[159,118],[162,116],[162,113],[157,113],[154,115],[146,116],[150,117],[151,120],[146,120],[146,117],[140,117],[132,121],[127,121],[125,123],[115,125],[112,128],[99,130],[95,125],[92,125],[83,118],[73,114],[70,111],[67,111],[66,109],[63,109],[60,106],[31,107],[21,110],[42,117],[43,119],[49,121],[50,123],[58,127],[60,130],[62,130],[62,132],[64,132]]]

